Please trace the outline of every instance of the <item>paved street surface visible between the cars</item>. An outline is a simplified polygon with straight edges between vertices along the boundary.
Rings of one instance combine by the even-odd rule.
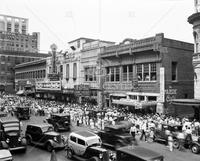
[[[44,117],[32,117],[30,121],[24,121],[23,132],[28,123],[30,122],[41,123],[43,122],[43,119]],[[76,126],[72,128],[72,130],[79,130],[79,129],[85,129],[85,128]],[[67,136],[69,133],[65,132],[62,134]],[[139,146],[144,146],[161,153],[162,155],[164,155],[165,161],[200,161],[200,154],[199,155],[192,154],[189,150],[186,150],[186,152],[180,152],[178,150],[169,152],[167,147],[159,143],[139,142]],[[57,161],[68,161],[68,159],[65,157],[64,150],[56,151],[56,156],[57,156]],[[13,157],[15,161],[50,161],[51,153],[38,147],[28,146],[27,152],[25,154],[14,153]]]

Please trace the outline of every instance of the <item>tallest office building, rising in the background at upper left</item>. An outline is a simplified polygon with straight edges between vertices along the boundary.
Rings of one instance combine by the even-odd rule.
[[[28,19],[0,14],[0,50],[38,52],[40,33],[28,33]]]

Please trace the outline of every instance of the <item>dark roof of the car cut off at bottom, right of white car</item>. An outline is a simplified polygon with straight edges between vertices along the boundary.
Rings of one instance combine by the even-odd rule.
[[[150,160],[158,157],[163,157],[163,155],[152,151],[150,149],[146,149],[143,147],[133,147],[133,146],[125,146],[117,149],[119,152],[123,152],[129,155],[134,155],[138,158],[142,158],[144,160]]]

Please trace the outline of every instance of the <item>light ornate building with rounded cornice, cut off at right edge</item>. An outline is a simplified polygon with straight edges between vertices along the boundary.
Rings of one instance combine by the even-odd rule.
[[[194,37],[194,98],[200,99],[200,1],[195,0],[195,13],[188,18]]]

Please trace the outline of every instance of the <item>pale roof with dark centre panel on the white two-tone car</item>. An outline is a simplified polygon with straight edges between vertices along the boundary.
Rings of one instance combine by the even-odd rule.
[[[75,137],[78,137],[80,139],[84,139],[84,140],[89,140],[90,138],[94,138],[94,137],[99,137],[98,135],[90,132],[90,131],[75,131],[72,132],[70,135],[73,135]]]

